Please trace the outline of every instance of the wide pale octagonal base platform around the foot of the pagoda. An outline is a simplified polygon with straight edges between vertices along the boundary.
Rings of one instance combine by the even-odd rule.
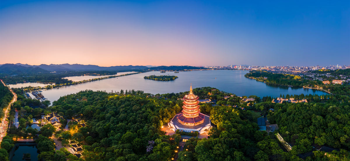
[[[198,131],[198,133],[202,134],[204,132],[206,132],[207,130],[209,130],[212,126],[211,126],[211,122],[210,122],[210,117],[207,115],[204,115],[202,113],[200,113],[202,116],[204,116],[204,120],[203,123],[200,123],[198,125],[195,126],[187,126],[186,124],[184,125],[183,122],[179,122],[178,121],[178,117],[181,114],[177,114],[175,115],[172,120],[168,123],[168,126],[171,127],[173,131],[176,131],[177,129],[185,131],[185,132],[192,132],[192,131]],[[180,116],[181,117],[181,116]]]

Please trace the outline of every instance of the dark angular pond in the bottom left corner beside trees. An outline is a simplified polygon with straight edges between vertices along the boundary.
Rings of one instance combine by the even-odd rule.
[[[22,160],[22,156],[23,156],[23,153],[30,153],[30,159],[32,161],[34,160],[38,160],[38,151],[37,151],[37,148],[36,146],[32,145],[32,146],[18,146],[15,148],[15,152],[13,154],[13,157],[12,157],[12,160],[13,161],[19,161],[19,160]]]

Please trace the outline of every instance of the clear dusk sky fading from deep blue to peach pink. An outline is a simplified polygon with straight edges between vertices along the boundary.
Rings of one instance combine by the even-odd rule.
[[[350,1],[0,0],[0,64],[350,64]]]

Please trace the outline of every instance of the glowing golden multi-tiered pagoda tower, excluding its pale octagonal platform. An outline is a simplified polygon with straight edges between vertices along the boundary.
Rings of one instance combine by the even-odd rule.
[[[182,113],[177,116],[177,121],[185,126],[196,126],[204,122],[204,115],[199,109],[198,96],[192,92],[192,85],[190,87],[190,93],[183,99]]]

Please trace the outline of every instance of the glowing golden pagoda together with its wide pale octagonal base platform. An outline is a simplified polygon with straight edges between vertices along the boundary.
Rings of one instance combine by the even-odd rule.
[[[193,94],[192,84],[190,92],[183,98],[183,106],[180,114],[176,114],[170,122],[168,128],[172,131],[180,130],[185,132],[197,131],[199,134],[206,133],[212,126],[210,117],[204,115],[199,109],[198,96]]]

